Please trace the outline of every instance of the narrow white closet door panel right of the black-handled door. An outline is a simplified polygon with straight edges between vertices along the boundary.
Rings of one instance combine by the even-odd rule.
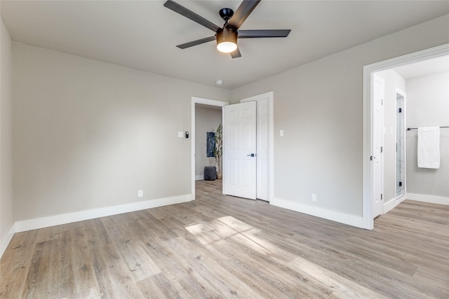
[[[269,99],[257,101],[257,198],[269,201]]]

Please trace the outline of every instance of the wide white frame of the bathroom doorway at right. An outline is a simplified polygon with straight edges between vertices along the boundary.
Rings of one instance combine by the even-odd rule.
[[[370,160],[373,153],[373,73],[445,55],[449,55],[449,43],[363,67],[363,228],[368,230],[374,228],[373,177]]]

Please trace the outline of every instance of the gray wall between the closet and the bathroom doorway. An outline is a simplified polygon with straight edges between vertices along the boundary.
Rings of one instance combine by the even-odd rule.
[[[449,43],[448,23],[445,15],[233,90],[233,102],[274,91],[274,197],[361,217],[363,66]]]

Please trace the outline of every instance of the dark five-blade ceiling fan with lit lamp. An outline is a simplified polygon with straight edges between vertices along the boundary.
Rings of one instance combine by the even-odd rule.
[[[236,12],[231,8],[220,9],[220,17],[225,21],[223,27],[218,27],[213,22],[189,11],[184,6],[177,4],[175,1],[168,0],[163,6],[175,13],[184,15],[186,18],[203,25],[204,27],[215,32],[214,36],[209,36],[204,39],[190,41],[189,43],[182,43],[177,45],[177,48],[185,49],[193,46],[207,43],[208,41],[217,41],[217,50],[223,53],[231,53],[232,58],[241,57],[239,47],[237,47],[237,39],[260,39],[265,37],[287,37],[290,29],[260,29],[260,30],[239,30],[243,22],[245,22],[248,15],[259,4],[260,0],[243,0]]]

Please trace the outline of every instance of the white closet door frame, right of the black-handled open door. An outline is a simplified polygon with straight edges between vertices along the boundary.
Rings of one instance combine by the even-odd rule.
[[[261,101],[263,99],[268,98],[269,105],[269,174],[268,174],[268,202],[272,202],[274,200],[274,92],[266,92],[262,95],[255,95],[254,97],[247,97],[245,99],[241,99],[240,102],[251,102],[251,101]]]

